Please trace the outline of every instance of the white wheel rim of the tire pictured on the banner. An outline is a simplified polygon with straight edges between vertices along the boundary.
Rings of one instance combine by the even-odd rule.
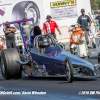
[[[37,14],[36,14],[36,11],[33,9],[33,8],[30,8],[28,11],[27,11],[27,18],[34,18],[34,23],[36,22],[36,19],[37,19]],[[32,21],[29,21],[30,24],[33,24]]]

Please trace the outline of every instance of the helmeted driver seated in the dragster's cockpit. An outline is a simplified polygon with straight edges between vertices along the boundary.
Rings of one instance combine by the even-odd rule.
[[[45,49],[50,47],[50,39],[49,37],[43,36],[39,39],[39,49],[40,52],[43,54],[45,52]]]

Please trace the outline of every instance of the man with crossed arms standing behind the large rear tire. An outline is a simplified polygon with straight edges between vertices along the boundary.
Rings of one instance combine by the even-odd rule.
[[[6,22],[8,23],[8,21]],[[16,29],[14,27],[11,27],[10,24],[6,25],[3,24],[3,31],[5,33],[5,38],[6,38],[6,46],[7,48],[15,48],[15,38],[14,38],[14,33],[16,32]]]

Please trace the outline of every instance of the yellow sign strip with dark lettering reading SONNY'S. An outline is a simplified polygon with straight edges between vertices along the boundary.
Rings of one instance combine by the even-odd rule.
[[[72,5],[76,5],[76,0],[51,2],[51,8],[65,7],[65,6],[72,6]]]

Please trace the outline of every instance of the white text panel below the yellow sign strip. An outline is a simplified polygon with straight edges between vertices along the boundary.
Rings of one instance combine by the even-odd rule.
[[[78,17],[77,5],[51,8],[51,15],[55,20]]]

